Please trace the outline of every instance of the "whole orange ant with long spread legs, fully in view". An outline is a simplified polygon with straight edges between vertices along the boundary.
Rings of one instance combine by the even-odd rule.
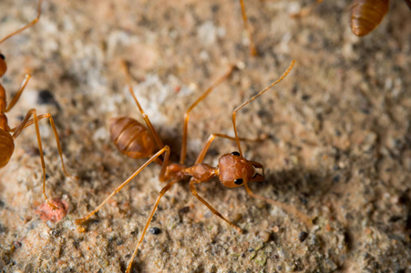
[[[270,198],[261,197],[259,195],[256,195],[252,192],[250,187],[248,187],[249,182],[262,181],[264,179],[264,171],[263,171],[263,166],[261,163],[247,160],[243,157],[241,146],[240,146],[240,141],[246,140],[246,139],[239,138],[237,134],[236,121],[235,121],[237,112],[243,106],[248,105],[250,102],[252,102],[257,97],[262,96],[262,94],[266,92],[267,90],[269,90],[272,86],[275,86],[280,81],[282,81],[283,78],[287,76],[290,73],[290,71],[293,69],[294,63],[295,61],[293,60],[292,64],[283,73],[283,76],[281,76],[278,80],[273,82],[271,86],[266,87],[265,89],[260,91],[257,95],[252,96],[252,98],[245,101],[243,104],[241,104],[241,106],[238,106],[237,108],[234,109],[234,111],[232,112],[232,125],[234,127],[235,137],[221,135],[221,134],[212,134],[211,136],[209,136],[207,142],[205,143],[204,147],[200,151],[200,154],[197,157],[194,165],[191,167],[186,167],[184,165],[184,161],[185,161],[185,156],[186,156],[188,122],[189,122],[189,117],[190,117],[190,111],[195,106],[197,106],[202,99],[208,96],[211,93],[211,90],[215,86],[218,86],[225,78],[231,75],[231,72],[233,71],[234,66],[231,66],[229,72],[227,72],[224,76],[221,76],[221,78],[218,81],[216,81],[211,87],[209,87],[200,96],[200,98],[197,99],[187,110],[184,116],[180,164],[177,164],[177,163],[169,162],[170,147],[164,146],[162,144],[158,133],[156,132],[154,127],[151,125],[151,122],[149,121],[149,116],[147,116],[147,114],[144,112],[142,107],[139,105],[139,101],[137,97],[134,95],[134,92],[131,86],[131,79],[129,76],[128,67],[123,62],[122,64],[125,69],[125,73],[126,73],[127,81],[128,81],[128,91],[130,92],[131,96],[133,96],[139,108],[139,112],[141,113],[145,123],[149,127],[149,131],[146,127],[139,124],[139,122],[135,119],[132,119],[129,117],[118,117],[114,119],[113,123],[110,126],[110,135],[115,145],[118,147],[118,149],[123,154],[126,154],[128,157],[132,157],[132,158],[149,157],[149,160],[146,161],[146,163],[144,163],[141,167],[139,167],[139,169],[136,170],[130,177],[128,177],[128,179],[126,179],[119,187],[117,187],[98,207],[96,207],[96,209],[90,212],[86,217],[78,218],[75,221],[78,226],[78,230],[84,230],[84,228],[79,227],[79,225],[87,221],[89,217],[93,216],[101,207],[104,206],[104,204],[108,202],[109,198],[113,197],[116,193],[118,193],[118,191],[120,191],[121,188],[125,187],[128,184],[128,182],[131,181],[131,179],[139,175],[139,173],[145,167],[149,166],[149,164],[152,162],[156,162],[157,164],[161,165],[161,170],[159,173],[159,181],[168,182],[168,184],[165,187],[163,187],[161,191],[159,192],[159,197],[157,198],[154,204],[154,207],[151,210],[149,219],[147,220],[146,226],[144,227],[141,233],[137,247],[135,248],[132,257],[129,260],[128,268],[126,270],[127,273],[130,271],[133,260],[137,255],[139,245],[141,244],[147,232],[151,219],[154,216],[154,213],[156,212],[157,207],[159,206],[160,198],[163,197],[164,194],[167,191],[169,191],[170,188],[175,183],[177,183],[184,177],[191,177],[190,178],[191,194],[197,197],[201,203],[203,203],[206,207],[208,207],[211,210],[213,214],[215,214],[216,216],[226,221],[229,225],[231,225],[231,227],[236,228],[240,233],[242,232],[241,227],[238,227],[237,225],[235,225],[234,223],[232,223],[231,221],[223,217],[220,212],[218,212],[214,207],[211,207],[211,205],[206,200],[204,200],[202,197],[199,196],[199,194],[197,193],[196,187],[195,187],[196,184],[208,182],[211,180],[212,177],[219,177],[221,183],[225,187],[244,186],[247,193],[250,196],[261,199],[274,206],[281,207],[287,213],[290,213],[294,217],[299,218],[305,224],[306,227],[308,228],[313,227],[313,223],[310,220],[310,218],[305,216],[297,208],[283,204],[279,201],[272,200]],[[219,159],[218,167],[211,167],[208,164],[202,163],[202,161],[205,155],[207,154],[209,147],[211,146],[211,142],[217,136],[235,140],[239,148],[239,151],[232,152],[231,154],[225,154],[221,156]],[[153,154],[153,150],[155,146],[159,147],[160,149],[157,153]]]

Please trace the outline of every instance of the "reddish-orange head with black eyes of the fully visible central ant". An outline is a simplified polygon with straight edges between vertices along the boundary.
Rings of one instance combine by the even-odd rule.
[[[232,152],[219,159],[219,179],[225,187],[240,187],[245,182],[263,181],[264,167],[241,157],[239,152]]]

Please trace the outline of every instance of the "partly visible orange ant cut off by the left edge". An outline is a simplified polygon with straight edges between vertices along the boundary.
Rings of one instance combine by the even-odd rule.
[[[28,23],[27,25],[23,26],[22,28],[16,30],[12,34],[5,36],[5,38],[0,40],[0,45],[3,42],[5,42],[5,40],[7,40],[8,38],[21,33],[26,28],[31,27],[37,23],[41,15],[42,2],[43,2],[42,0],[39,0],[37,3],[36,19]],[[5,75],[6,70],[7,70],[7,66],[5,63],[5,56],[0,53],[0,78]],[[61,165],[63,167],[63,171],[67,177],[71,177],[71,176],[67,174],[66,167],[64,165],[63,153],[61,151],[60,141],[57,136],[57,129],[56,129],[56,125],[54,123],[53,117],[49,113],[37,115],[36,109],[30,109],[27,111],[26,116],[23,119],[23,121],[20,123],[20,125],[15,126],[14,128],[10,128],[8,126],[7,116],[5,116],[5,113],[9,112],[13,108],[13,106],[15,106],[15,103],[18,101],[19,97],[22,95],[23,91],[25,90],[30,77],[31,75],[29,74],[26,75],[20,88],[18,89],[17,93],[15,94],[15,96],[13,97],[12,101],[10,102],[8,106],[6,102],[6,96],[5,96],[5,87],[3,87],[2,84],[0,83],[0,168],[5,167],[10,157],[12,157],[13,152],[15,150],[15,138],[17,138],[17,136],[20,135],[23,129],[34,124],[36,126],[36,136],[37,136],[37,144],[38,144],[38,150],[39,150],[40,160],[41,160],[41,167],[43,169],[43,194],[46,198],[47,205],[53,209],[56,209],[57,207],[50,202],[50,200],[48,199],[46,195],[46,164],[45,164],[45,159],[43,156],[43,148],[41,145],[40,129],[38,126],[38,120],[45,118],[45,117],[49,119],[51,127],[53,128],[54,135],[56,136],[57,149],[58,149],[58,153],[60,154]],[[33,116],[33,118],[30,119],[31,116]]]

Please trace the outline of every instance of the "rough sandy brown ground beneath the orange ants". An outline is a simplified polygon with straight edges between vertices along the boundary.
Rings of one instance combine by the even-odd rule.
[[[67,205],[53,222],[42,204],[36,134],[27,128],[0,170],[0,268],[3,272],[124,272],[161,187],[147,167],[78,232],[73,220],[96,207],[144,159],[121,155],[109,118],[139,117],[119,60],[159,136],[179,160],[182,118],[231,64],[235,72],[190,119],[188,163],[211,133],[233,134],[235,106],[282,75],[284,81],[238,114],[245,157],[265,166],[252,190],[300,209],[308,231],[243,188],[211,181],[200,195],[246,232],[239,234],[191,196],[188,181],[163,197],[133,272],[411,272],[411,12],[391,1],[364,38],[349,28],[349,6],[324,1],[246,1],[259,56],[248,55],[241,9],[230,1],[46,1],[39,23],[0,45],[13,96],[11,126],[35,107],[54,116],[70,174],[65,177],[46,120],[46,189]],[[36,2],[2,0],[0,37],[36,16]],[[41,92],[47,90],[49,92]],[[205,158],[236,150],[216,140]],[[43,212],[40,210],[43,209]],[[57,217],[57,216],[56,216]]]

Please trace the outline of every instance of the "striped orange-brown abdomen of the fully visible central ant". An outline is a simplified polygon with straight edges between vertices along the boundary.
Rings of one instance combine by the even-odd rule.
[[[134,118],[115,117],[111,120],[110,136],[118,150],[131,158],[150,157],[155,142],[149,130]]]

